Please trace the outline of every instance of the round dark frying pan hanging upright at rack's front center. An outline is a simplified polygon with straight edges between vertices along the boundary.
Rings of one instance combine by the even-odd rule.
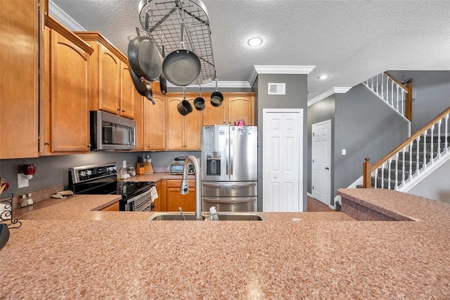
[[[183,49],[172,51],[162,62],[162,73],[177,86],[191,85],[200,75],[202,64],[192,51],[184,49],[184,22],[181,22],[181,46]]]

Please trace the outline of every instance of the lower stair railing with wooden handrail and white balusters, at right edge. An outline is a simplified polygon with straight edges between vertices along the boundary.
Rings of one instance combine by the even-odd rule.
[[[444,154],[450,154],[449,115],[450,107],[374,165],[371,165],[370,158],[366,157],[363,164],[363,187],[371,188],[374,177],[374,188],[399,189],[407,180],[411,181],[420,176]],[[427,143],[430,144],[429,147]],[[406,166],[406,162],[409,165]]]

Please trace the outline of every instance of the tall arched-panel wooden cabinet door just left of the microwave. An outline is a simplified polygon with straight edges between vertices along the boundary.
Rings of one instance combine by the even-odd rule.
[[[89,151],[89,54],[50,30],[50,149]]]

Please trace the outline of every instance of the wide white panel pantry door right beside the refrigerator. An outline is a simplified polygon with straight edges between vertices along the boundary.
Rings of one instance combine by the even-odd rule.
[[[262,211],[304,211],[303,110],[263,110]]]

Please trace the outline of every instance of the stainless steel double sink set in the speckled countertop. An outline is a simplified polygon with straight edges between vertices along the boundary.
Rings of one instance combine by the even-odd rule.
[[[265,221],[266,217],[262,213],[229,213],[219,212],[219,221]],[[202,213],[202,220],[206,220],[208,213]],[[195,213],[184,213],[186,221],[195,220]],[[150,221],[182,221],[180,213],[155,213],[148,220]]]

